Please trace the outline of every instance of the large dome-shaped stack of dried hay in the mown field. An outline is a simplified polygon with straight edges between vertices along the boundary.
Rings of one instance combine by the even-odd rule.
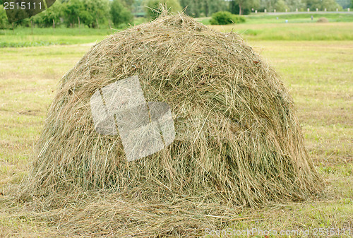
[[[117,134],[95,129],[90,100],[138,76],[146,102],[165,102],[172,143],[128,161]],[[233,32],[180,13],[116,32],[62,78],[37,145],[28,189],[193,196],[257,207],[299,201],[320,178],[280,77]]]

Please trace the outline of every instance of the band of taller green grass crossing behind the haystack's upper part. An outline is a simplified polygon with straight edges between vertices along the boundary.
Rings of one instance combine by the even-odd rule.
[[[221,31],[234,31],[246,40],[353,40],[353,23],[273,23],[210,25]],[[16,28],[0,30],[1,47],[32,47],[52,44],[100,42],[116,30],[71,28]]]

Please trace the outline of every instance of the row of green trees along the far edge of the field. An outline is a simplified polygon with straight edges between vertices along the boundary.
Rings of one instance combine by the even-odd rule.
[[[353,6],[353,0],[337,0],[345,7]],[[46,11],[16,23],[17,25],[37,27],[56,27],[66,25],[75,28],[85,25],[88,28],[100,28],[101,25],[124,27],[133,22],[133,16],[156,18],[159,4],[164,4],[170,11],[184,11],[189,16],[211,16],[218,11],[229,11],[233,14],[249,14],[258,11],[316,11],[316,8],[327,11],[342,9],[336,0],[57,0]],[[8,28],[6,13],[0,0],[0,28]],[[147,7],[146,7],[147,6]]]

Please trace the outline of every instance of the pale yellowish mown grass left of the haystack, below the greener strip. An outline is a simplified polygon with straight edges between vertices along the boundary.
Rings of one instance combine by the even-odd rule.
[[[22,177],[56,83],[87,49],[88,46],[0,49],[0,191],[4,181]]]

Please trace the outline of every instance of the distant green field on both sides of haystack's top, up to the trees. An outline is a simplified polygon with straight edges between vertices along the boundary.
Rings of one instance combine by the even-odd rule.
[[[316,23],[325,16],[329,23]],[[277,19],[278,18],[278,19]],[[210,18],[197,18],[201,23],[209,24]],[[288,20],[288,23],[285,23]],[[134,24],[145,22],[145,18],[136,18]],[[237,25],[213,25],[221,31],[235,31],[246,40],[353,40],[353,14],[310,14],[258,15],[246,16],[246,23]],[[100,42],[121,29],[90,28],[15,28],[0,30],[1,47],[37,47],[52,44],[86,44]]]

